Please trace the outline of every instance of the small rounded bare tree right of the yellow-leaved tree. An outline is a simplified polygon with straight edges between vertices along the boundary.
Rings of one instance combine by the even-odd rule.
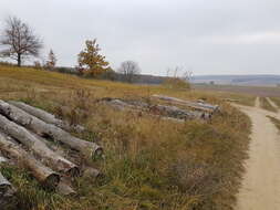
[[[133,83],[135,81],[137,74],[141,73],[141,69],[136,62],[125,61],[121,64],[117,72],[123,74],[124,81],[126,81],[128,83]]]

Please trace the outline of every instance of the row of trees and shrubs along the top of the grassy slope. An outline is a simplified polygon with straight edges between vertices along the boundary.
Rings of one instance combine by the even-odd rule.
[[[22,20],[17,17],[10,17],[6,20],[6,27],[0,36],[0,56],[9,57],[17,61],[17,65],[21,66],[22,61],[29,57],[39,57],[40,51],[43,49],[42,39]],[[58,71],[62,73],[76,74],[84,77],[105,78],[113,81],[122,81],[127,83],[136,83],[142,78],[145,83],[148,76],[141,76],[141,67],[135,61],[124,61],[120,67],[114,71],[106,57],[101,54],[97,40],[86,40],[85,48],[77,54],[77,65],[75,69],[58,67],[58,59],[53,50],[50,50],[46,61],[34,61],[33,67],[38,70]],[[168,70],[169,72],[170,70]],[[175,69],[173,80],[167,76],[165,83],[169,86],[182,85],[185,77],[177,76],[178,69]],[[144,80],[145,78],[145,80]],[[146,80],[148,81],[148,80]],[[160,80],[157,80],[160,81]]]

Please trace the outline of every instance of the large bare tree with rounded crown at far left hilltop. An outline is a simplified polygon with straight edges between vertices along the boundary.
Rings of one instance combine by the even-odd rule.
[[[15,60],[18,66],[21,66],[23,59],[39,56],[43,43],[39,36],[34,35],[32,29],[15,17],[10,17],[6,23],[6,29],[0,39],[0,45],[4,50],[0,54]]]

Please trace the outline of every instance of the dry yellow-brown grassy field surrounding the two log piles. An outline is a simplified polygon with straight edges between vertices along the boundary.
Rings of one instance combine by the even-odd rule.
[[[101,97],[151,101],[152,94],[204,98],[219,104],[210,120],[177,124],[96,103]],[[249,118],[204,91],[175,91],[84,80],[33,69],[0,66],[0,98],[24,101],[77,122],[80,137],[103,146],[105,157],[87,160],[104,177],[76,178],[75,197],[43,190],[24,169],[3,166],[18,188],[10,210],[229,210],[243,172]]]

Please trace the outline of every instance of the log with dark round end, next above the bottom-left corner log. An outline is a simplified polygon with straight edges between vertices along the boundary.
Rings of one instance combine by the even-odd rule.
[[[9,154],[11,158],[22,162],[42,186],[54,189],[60,182],[60,175],[43,166],[19,145],[8,140],[7,135],[0,133],[0,150]]]

